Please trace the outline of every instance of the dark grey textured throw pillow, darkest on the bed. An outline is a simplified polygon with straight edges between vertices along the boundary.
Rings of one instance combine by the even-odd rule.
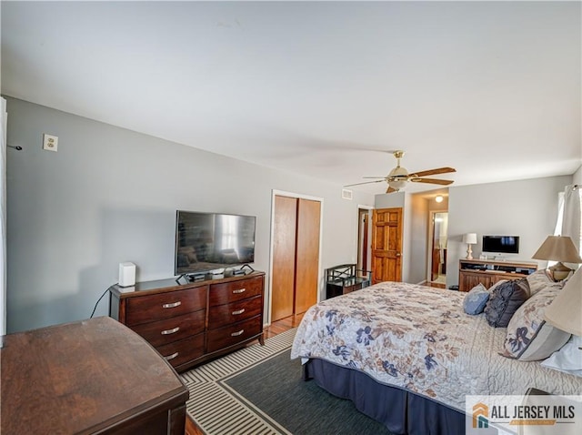
[[[506,281],[495,288],[485,307],[487,323],[494,328],[506,328],[517,309],[529,297],[526,278]]]

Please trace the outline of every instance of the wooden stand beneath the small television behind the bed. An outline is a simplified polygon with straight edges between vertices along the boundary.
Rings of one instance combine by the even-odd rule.
[[[536,270],[537,263],[533,262],[460,259],[458,262],[458,290],[469,291],[479,283],[490,288],[502,279],[524,278]]]

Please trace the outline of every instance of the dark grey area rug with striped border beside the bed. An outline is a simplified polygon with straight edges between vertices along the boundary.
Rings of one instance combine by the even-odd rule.
[[[386,427],[301,379],[290,359],[296,329],[182,374],[186,410],[207,435],[389,434]]]

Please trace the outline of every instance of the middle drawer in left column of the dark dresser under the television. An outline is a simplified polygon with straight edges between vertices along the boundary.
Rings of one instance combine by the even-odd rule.
[[[206,309],[199,309],[175,318],[135,325],[132,329],[158,347],[204,332],[205,318]]]

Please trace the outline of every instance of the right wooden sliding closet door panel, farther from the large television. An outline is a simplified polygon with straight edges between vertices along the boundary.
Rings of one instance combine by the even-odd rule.
[[[321,203],[300,198],[297,203],[295,312],[317,303],[319,279],[319,223]]]

